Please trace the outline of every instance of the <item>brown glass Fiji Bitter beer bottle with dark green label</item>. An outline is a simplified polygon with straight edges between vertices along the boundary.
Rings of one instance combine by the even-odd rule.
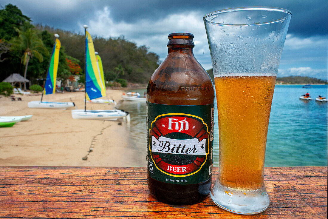
[[[214,87],[195,59],[194,35],[171,33],[147,86],[147,181],[159,201],[189,205],[211,189]]]

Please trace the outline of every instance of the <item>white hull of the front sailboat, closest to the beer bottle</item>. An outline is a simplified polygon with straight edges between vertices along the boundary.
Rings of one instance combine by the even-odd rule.
[[[117,120],[126,118],[129,121],[130,115],[122,110],[72,110],[72,118],[87,120]]]

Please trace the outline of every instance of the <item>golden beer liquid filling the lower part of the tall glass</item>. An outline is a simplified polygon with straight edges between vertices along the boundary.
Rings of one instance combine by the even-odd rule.
[[[223,186],[254,190],[263,168],[276,74],[215,77],[219,128],[219,179]]]

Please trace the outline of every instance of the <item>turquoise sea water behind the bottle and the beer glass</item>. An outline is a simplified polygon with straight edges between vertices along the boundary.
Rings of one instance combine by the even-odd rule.
[[[145,90],[138,91],[141,95]],[[327,85],[276,85],[272,101],[265,166],[327,166],[328,103],[300,100],[328,97]],[[216,100],[215,100],[216,107]],[[118,108],[131,113],[131,138],[146,159],[146,104],[123,101]],[[215,110],[215,112],[217,112]],[[215,115],[217,123],[217,114]],[[218,165],[218,130],[215,125],[214,165]]]

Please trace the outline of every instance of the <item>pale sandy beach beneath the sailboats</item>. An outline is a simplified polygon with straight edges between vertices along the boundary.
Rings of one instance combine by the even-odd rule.
[[[116,102],[123,91],[107,90]],[[30,115],[28,121],[0,128],[0,166],[145,166],[146,159],[134,149],[129,124],[122,120],[76,120],[71,109],[28,108],[41,95],[21,97],[22,101],[0,98],[0,116]],[[75,102],[84,109],[84,92],[65,92],[44,96],[45,101]],[[87,109],[113,109],[113,105],[87,103]],[[91,150],[90,150],[91,148]],[[83,160],[82,158],[87,158]]]

